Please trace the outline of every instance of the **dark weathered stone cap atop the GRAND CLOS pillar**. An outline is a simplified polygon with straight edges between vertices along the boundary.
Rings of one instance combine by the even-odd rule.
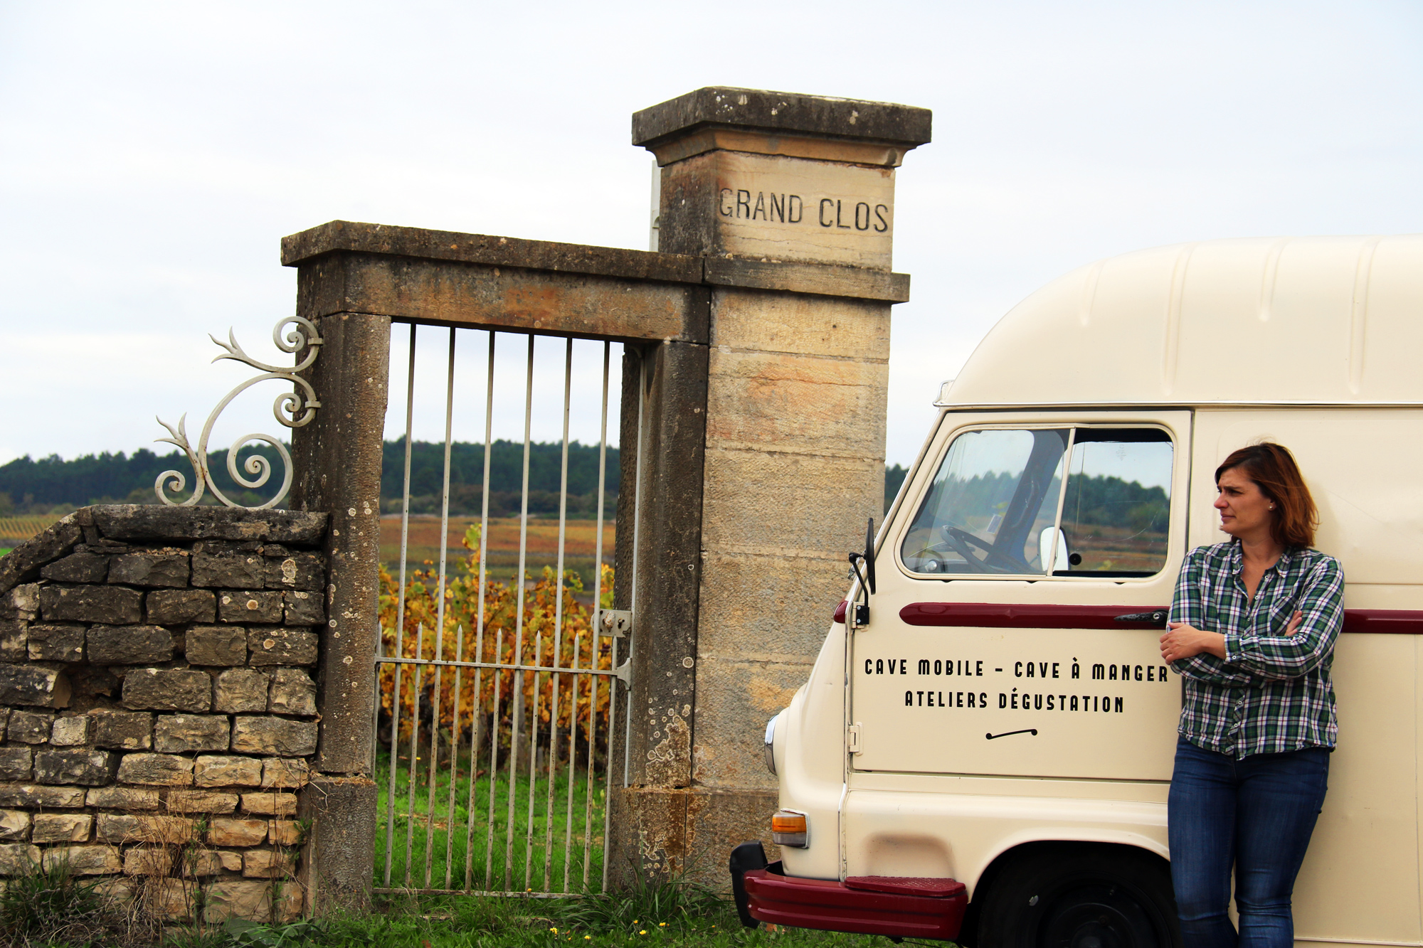
[[[898,165],[931,141],[928,108],[709,85],[633,112],[632,144],[662,165],[713,148]]]

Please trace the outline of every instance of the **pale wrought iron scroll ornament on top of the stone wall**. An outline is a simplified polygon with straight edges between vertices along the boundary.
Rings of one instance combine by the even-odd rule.
[[[282,330],[286,326],[292,326],[292,329],[283,333]],[[164,421],[162,418],[158,418],[158,424],[168,428],[168,434],[171,437],[157,438],[157,440],[166,441],[168,444],[176,444],[178,447],[181,447],[184,453],[188,455],[188,463],[192,464],[195,475],[192,497],[189,497],[185,501],[176,501],[164,493],[166,490],[172,491],[174,494],[181,494],[186,488],[188,478],[184,477],[181,471],[164,471],[162,474],[158,475],[158,480],[154,483],[154,493],[158,494],[159,501],[168,504],[169,507],[192,507],[199,500],[202,500],[205,491],[212,491],[212,495],[216,497],[223,504],[226,504],[228,507],[243,507],[242,504],[238,504],[236,501],[225,495],[213,483],[212,471],[208,468],[208,437],[212,434],[212,424],[213,421],[218,420],[218,416],[222,414],[223,410],[226,410],[226,407],[232,403],[233,399],[236,399],[239,394],[242,394],[252,386],[262,381],[269,381],[272,379],[292,383],[293,390],[283,391],[276,397],[276,401],[272,403],[272,414],[276,416],[276,420],[279,423],[282,423],[289,428],[302,427],[303,424],[314,418],[316,410],[322,407],[322,403],[317,401],[316,399],[316,390],[312,389],[312,384],[306,379],[302,379],[299,374],[296,374],[299,372],[309,369],[312,363],[316,362],[316,356],[322,350],[322,336],[320,333],[317,333],[316,326],[310,320],[303,319],[300,316],[287,316],[286,319],[277,322],[277,325],[272,329],[272,342],[276,343],[276,347],[280,349],[282,352],[297,353],[300,352],[302,346],[306,346],[306,357],[302,359],[297,364],[292,366],[290,369],[283,369],[280,366],[269,366],[265,362],[258,362],[256,359],[253,359],[252,356],[249,356],[246,352],[242,350],[242,346],[238,344],[238,339],[231,329],[228,330],[228,342],[222,342],[216,336],[208,336],[208,339],[218,343],[222,349],[226,350],[221,356],[213,357],[213,362],[218,362],[219,359],[233,359],[236,362],[252,366],[253,369],[258,369],[259,372],[262,372],[262,374],[256,376],[255,379],[248,379],[240,386],[229,391],[228,396],[218,403],[218,407],[215,407],[212,410],[212,414],[208,416],[206,424],[202,426],[202,437],[198,438],[196,447],[188,443],[186,414],[178,418],[176,428]],[[272,507],[273,504],[277,504],[283,497],[286,497],[286,493],[292,490],[292,455],[287,453],[286,446],[282,444],[280,440],[272,437],[270,434],[243,434],[236,441],[233,441],[232,447],[228,448],[228,474],[240,487],[245,487],[248,490],[256,490],[265,485],[268,480],[270,480],[272,477],[272,463],[260,454],[252,454],[248,457],[246,461],[242,463],[242,467],[246,468],[246,473],[252,475],[250,480],[243,477],[238,471],[238,451],[243,446],[252,441],[262,441],[272,446],[273,448],[276,448],[276,453],[282,457],[282,467],[283,467],[282,490],[277,491],[276,495],[268,502],[259,504],[258,507],[245,508],[245,510],[265,510],[268,507]]]

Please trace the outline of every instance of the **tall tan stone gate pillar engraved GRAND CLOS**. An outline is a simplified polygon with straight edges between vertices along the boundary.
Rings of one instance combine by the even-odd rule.
[[[696,601],[650,615],[639,591],[615,870],[724,888],[730,848],[770,838],[766,722],[807,679],[845,554],[884,510],[889,307],[908,299],[895,169],[929,125],[922,108],[740,88],[633,115],[662,167],[659,251],[703,258],[710,344],[700,470],[657,494],[700,507],[680,555],[655,551],[686,561]]]

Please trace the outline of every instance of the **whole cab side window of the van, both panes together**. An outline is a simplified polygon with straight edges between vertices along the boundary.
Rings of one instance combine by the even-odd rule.
[[[1160,428],[965,431],[899,555],[925,575],[1150,576],[1165,565],[1171,470]]]

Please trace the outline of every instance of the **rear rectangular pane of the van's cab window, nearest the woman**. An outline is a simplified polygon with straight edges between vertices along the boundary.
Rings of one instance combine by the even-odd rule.
[[[1077,428],[1053,575],[1150,576],[1165,565],[1171,438],[1160,428]]]

